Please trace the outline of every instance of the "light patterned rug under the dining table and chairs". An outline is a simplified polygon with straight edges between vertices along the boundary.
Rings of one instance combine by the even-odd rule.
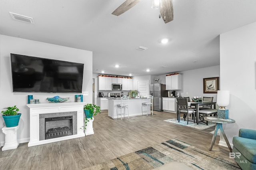
[[[188,121],[188,125],[187,125],[187,121],[183,121],[183,120],[180,120],[180,122],[178,122],[177,119],[167,119],[164,121],[170,122],[170,123],[175,123],[177,125],[182,125],[182,126],[186,126],[186,127],[197,128],[200,130],[204,130],[206,128],[215,126],[215,123],[211,123],[211,122],[208,122],[208,125],[206,125],[205,123],[202,123],[202,122],[199,122],[198,125],[196,125],[196,123],[194,123],[192,121]]]

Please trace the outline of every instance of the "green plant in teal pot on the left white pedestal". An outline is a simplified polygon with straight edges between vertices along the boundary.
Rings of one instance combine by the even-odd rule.
[[[18,113],[19,109],[16,106],[6,107],[5,111],[2,111],[4,123],[6,127],[16,127],[19,124],[21,113]]]

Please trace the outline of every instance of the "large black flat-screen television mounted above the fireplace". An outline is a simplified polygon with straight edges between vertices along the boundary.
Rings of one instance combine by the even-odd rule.
[[[84,64],[11,53],[13,92],[82,93]]]

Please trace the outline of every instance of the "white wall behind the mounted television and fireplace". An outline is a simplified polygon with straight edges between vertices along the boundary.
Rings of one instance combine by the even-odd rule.
[[[17,105],[22,116],[17,131],[18,142],[28,142],[30,138],[29,108],[26,106],[28,95],[48,102],[47,97],[70,97],[74,102],[75,93],[13,93],[10,53],[30,55],[42,58],[58,59],[84,63],[84,79],[82,91],[92,91],[92,51],[74,49],[49,43],[36,42],[22,38],[0,35],[0,108]],[[86,103],[92,103],[92,93],[84,96]],[[0,128],[4,127],[4,120],[0,117]],[[5,136],[0,130],[0,142],[3,146]]]

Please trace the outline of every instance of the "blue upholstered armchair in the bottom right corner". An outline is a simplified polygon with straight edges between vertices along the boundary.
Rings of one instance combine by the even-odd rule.
[[[233,137],[232,152],[242,170],[256,170],[256,130],[239,129],[239,137]]]

